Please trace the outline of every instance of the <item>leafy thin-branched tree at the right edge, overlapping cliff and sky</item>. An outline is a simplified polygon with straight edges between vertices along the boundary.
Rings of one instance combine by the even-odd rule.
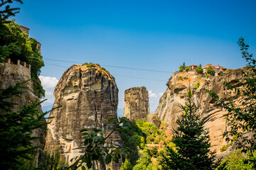
[[[253,55],[247,52],[249,45],[246,45],[244,38],[238,40],[238,46],[242,51],[242,58],[247,62],[247,72],[245,69],[241,69],[244,79],[242,81],[237,80],[240,84],[239,87],[225,81],[224,86],[226,89],[233,91],[238,97],[241,98],[238,102],[242,104],[242,107],[237,106],[233,100],[225,101],[224,98],[219,98],[214,91],[208,91],[216,103],[223,106],[228,113],[226,114],[226,120],[229,130],[227,130],[223,137],[227,141],[230,138],[236,138],[233,143],[242,152],[253,152],[256,149],[256,60],[253,59]],[[248,137],[246,132],[250,132]]]

